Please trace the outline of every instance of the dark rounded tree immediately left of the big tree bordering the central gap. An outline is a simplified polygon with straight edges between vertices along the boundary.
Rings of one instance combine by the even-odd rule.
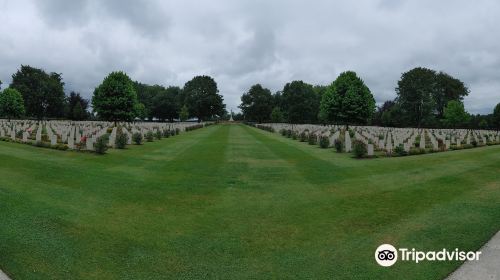
[[[153,98],[151,115],[159,120],[173,121],[178,118],[181,92],[179,87],[168,87],[158,92]]]

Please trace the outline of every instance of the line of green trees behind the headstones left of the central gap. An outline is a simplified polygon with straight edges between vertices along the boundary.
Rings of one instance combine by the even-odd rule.
[[[0,117],[202,121],[227,115],[218,93],[217,83],[209,76],[196,76],[180,88],[143,84],[132,81],[124,72],[112,72],[87,100],[77,92],[65,94],[62,74],[22,65],[12,75],[9,87],[0,93]]]

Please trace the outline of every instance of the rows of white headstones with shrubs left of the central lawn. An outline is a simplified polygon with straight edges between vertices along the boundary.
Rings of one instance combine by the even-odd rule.
[[[96,151],[96,143],[123,148],[143,139],[153,141],[211,123],[113,123],[103,121],[1,120],[0,139],[60,150]],[[120,140],[118,140],[120,139]],[[121,143],[123,142],[123,143]],[[119,146],[119,147],[117,147]]]

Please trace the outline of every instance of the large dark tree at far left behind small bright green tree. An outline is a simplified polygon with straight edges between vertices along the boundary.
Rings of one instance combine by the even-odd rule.
[[[12,75],[10,87],[22,94],[28,116],[43,119],[64,115],[65,96],[61,74],[47,74],[42,69],[21,65],[21,69]]]

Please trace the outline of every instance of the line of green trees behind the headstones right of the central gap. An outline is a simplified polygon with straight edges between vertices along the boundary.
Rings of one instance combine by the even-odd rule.
[[[274,94],[260,84],[253,85],[242,95],[242,114],[235,119],[259,123],[500,129],[500,103],[492,114],[471,115],[463,104],[469,93],[459,79],[417,67],[401,75],[394,100],[376,107],[363,80],[347,71],[327,86],[293,81]]]

